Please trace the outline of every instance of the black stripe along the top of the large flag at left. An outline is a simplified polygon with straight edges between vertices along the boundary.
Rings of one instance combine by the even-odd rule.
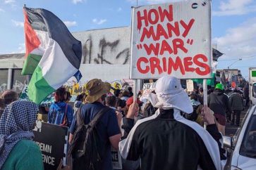
[[[68,61],[79,69],[82,59],[82,44],[73,37],[66,25],[56,15],[42,8],[24,8],[28,14],[28,20],[35,30],[49,33],[65,54]]]

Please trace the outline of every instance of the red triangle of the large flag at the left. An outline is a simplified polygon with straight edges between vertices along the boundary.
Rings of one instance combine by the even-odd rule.
[[[38,48],[41,44],[39,38],[37,37],[37,34],[35,33],[35,30],[30,25],[30,22],[28,21],[28,14],[23,10],[24,13],[24,32],[25,32],[25,46],[26,46],[26,53],[25,58],[28,57],[28,54],[31,53],[35,48]]]

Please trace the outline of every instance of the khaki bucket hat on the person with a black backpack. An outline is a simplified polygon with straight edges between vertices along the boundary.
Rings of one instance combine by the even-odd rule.
[[[85,102],[94,103],[102,97],[102,95],[109,93],[111,84],[103,82],[101,79],[91,79],[85,86],[87,97]]]

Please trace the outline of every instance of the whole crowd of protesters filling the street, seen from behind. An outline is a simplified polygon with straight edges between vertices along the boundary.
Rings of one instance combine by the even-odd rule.
[[[101,150],[97,152],[101,160],[99,169],[113,169],[111,147],[120,151],[123,170],[197,169],[199,166],[222,169],[221,160],[226,157],[220,139],[225,135],[226,122],[239,126],[240,112],[248,105],[245,91],[242,95],[235,89],[227,95],[224,86],[217,84],[208,91],[204,106],[202,88],[186,93],[180,81],[169,76],[158,79],[156,89],[142,101],[141,91],[133,101],[131,87],[112,88],[111,93],[111,85],[100,79],[88,81],[85,90],[70,105],[71,93],[61,87],[55,91],[54,103],[49,108],[18,100],[15,91],[2,93],[0,169],[13,166],[43,169],[39,160],[41,152],[32,143],[38,111],[47,115],[45,122],[68,126],[71,148],[79,141],[77,132],[81,122],[90,124],[98,115],[99,143],[95,147]],[[23,154],[23,150],[28,152]],[[75,150],[73,147],[72,153]],[[25,157],[26,164],[23,164]],[[68,167],[79,169],[83,164],[72,158]]]

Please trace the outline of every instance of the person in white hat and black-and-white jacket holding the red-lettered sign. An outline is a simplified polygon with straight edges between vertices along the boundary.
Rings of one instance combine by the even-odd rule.
[[[188,95],[176,77],[161,77],[157,80],[156,94],[150,93],[150,101],[159,110],[134,126],[136,105],[131,105],[123,118],[124,134],[119,150],[124,159],[141,159],[142,170],[221,169],[221,158],[214,118],[207,129],[181,116],[181,112],[193,112]],[[209,112],[208,112],[209,113]],[[208,114],[209,115],[209,114]],[[132,128],[133,127],[133,128]],[[214,140],[215,139],[215,140]]]

